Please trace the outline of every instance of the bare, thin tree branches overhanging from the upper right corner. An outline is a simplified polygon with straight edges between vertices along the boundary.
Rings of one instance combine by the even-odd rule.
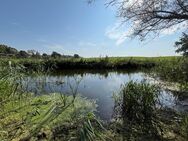
[[[141,40],[175,25],[187,28],[188,0],[108,0],[107,5],[118,7],[117,16],[131,23],[130,32]]]

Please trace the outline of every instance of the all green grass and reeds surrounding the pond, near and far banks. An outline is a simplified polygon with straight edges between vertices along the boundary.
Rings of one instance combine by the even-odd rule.
[[[26,76],[62,70],[100,70],[105,74],[132,69],[145,71],[163,82],[180,84],[181,96],[188,90],[187,66],[187,58],[181,56],[0,58],[0,140],[186,141],[188,115],[160,106],[161,84],[130,81],[123,85],[113,96],[114,115],[107,122],[95,116],[95,101],[79,96],[79,79],[75,79],[75,87],[70,84],[70,96],[34,95],[24,90],[21,82]]]

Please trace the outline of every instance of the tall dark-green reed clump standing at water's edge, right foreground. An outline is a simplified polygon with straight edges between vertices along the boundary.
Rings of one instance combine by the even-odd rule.
[[[157,138],[162,134],[157,117],[159,94],[155,85],[130,81],[115,96],[115,118],[121,120],[125,138]]]

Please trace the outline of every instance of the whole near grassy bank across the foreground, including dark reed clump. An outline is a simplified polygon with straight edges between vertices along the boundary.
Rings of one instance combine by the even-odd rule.
[[[20,62],[13,63],[21,65]],[[104,124],[93,114],[95,102],[79,97],[77,91],[73,90],[71,96],[62,93],[36,96],[25,92],[20,82],[27,73],[22,73],[23,68],[14,68],[14,64],[0,70],[0,140],[187,139],[187,115],[183,117],[182,113],[159,108],[158,86],[145,82],[124,85],[114,96],[113,120]]]

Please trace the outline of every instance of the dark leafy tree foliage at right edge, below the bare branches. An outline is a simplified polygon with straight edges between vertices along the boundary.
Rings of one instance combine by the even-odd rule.
[[[179,41],[175,42],[177,53],[182,53],[183,56],[188,56],[188,35],[183,33]]]

